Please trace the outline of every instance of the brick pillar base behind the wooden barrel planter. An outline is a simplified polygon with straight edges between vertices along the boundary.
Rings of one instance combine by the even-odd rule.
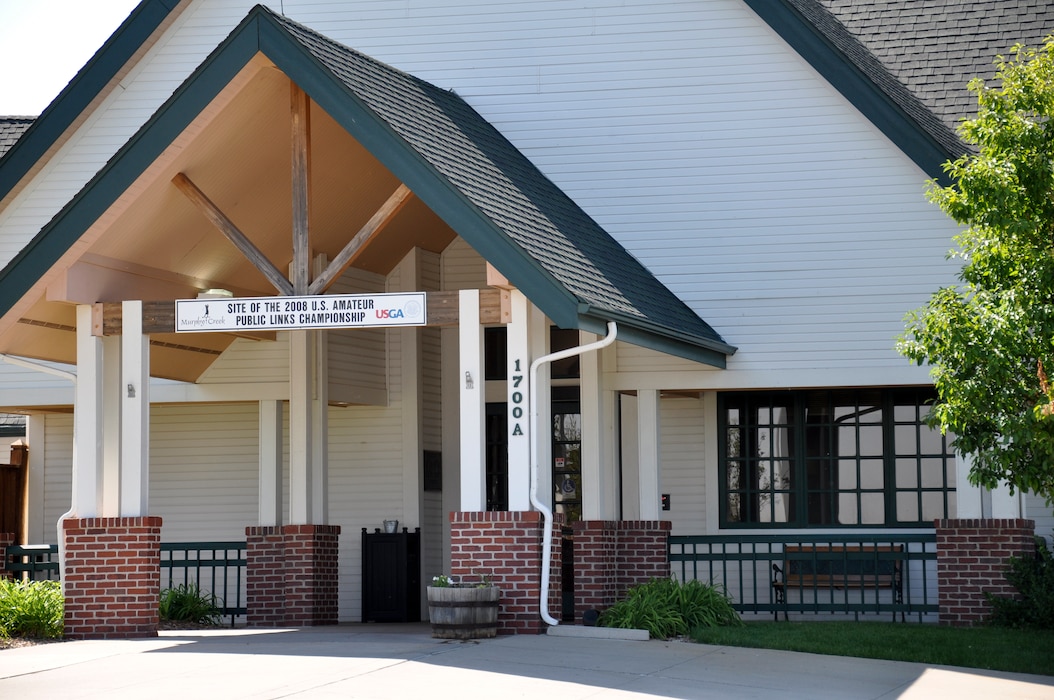
[[[499,635],[542,634],[542,513],[533,511],[450,513],[451,571],[465,582],[489,577],[502,590]],[[552,527],[549,615],[560,619],[560,524]],[[432,573],[429,573],[430,578]]]

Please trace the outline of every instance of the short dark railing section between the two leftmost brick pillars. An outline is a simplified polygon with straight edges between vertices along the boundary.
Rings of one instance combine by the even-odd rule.
[[[162,542],[161,588],[192,584],[214,596],[223,617],[246,615],[245,542]]]

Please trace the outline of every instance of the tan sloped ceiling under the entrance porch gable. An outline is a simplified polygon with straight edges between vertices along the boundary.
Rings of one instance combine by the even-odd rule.
[[[222,288],[238,296],[277,292],[173,184],[188,176],[278,269],[293,257],[290,79],[252,59],[182,135],[62,256],[0,334],[0,352],[76,358],[75,304],[189,298]],[[399,180],[317,104],[311,103],[310,240],[333,259]],[[444,250],[455,234],[416,197],[352,267],[387,274],[414,247]],[[234,339],[228,334],[152,336],[156,376],[193,382]]]

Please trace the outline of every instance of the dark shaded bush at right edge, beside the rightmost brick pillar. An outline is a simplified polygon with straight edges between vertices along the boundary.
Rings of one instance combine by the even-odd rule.
[[[1042,538],[1036,538],[1035,556],[1010,558],[1007,581],[1020,598],[984,594],[992,604],[989,621],[1002,627],[1054,629],[1054,559]]]

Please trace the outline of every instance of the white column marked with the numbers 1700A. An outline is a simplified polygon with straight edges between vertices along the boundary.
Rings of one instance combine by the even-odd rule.
[[[523,292],[509,292],[510,319],[507,334],[507,396],[509,429],[509,510],[530,510],[530,370],[531,305]],[[548,464],[543,462],[541,464]]]

